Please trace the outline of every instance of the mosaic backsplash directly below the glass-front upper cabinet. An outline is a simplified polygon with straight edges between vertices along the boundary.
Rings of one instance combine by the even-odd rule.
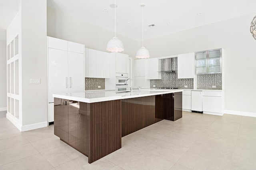
[[[222,90],[222,74],[197,74],[197,89]]]

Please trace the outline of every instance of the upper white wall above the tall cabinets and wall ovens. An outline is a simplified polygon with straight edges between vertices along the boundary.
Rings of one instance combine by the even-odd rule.
[[[113,18],[114,20],[114,18]],[[113,25],[114,27],[114,25]],[[106,51],[108,41],[114,32],[73,18],[52,8],[47,8],[47,35],[84,44],[86,48]],[[140,42],[122,35],[116,35],[124,44],[122,53],[135,57]]]

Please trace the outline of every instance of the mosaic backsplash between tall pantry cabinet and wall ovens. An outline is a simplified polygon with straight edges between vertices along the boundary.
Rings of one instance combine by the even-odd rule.
[[[100,86],[100,88],[98,88]],[[85,78],[85,90],[104,90],[105,78]]]

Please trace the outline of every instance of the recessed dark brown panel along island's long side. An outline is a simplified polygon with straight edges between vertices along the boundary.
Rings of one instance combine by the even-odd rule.
[[[155,105],[155,96],[122,99],[122,137],[161,121]]]

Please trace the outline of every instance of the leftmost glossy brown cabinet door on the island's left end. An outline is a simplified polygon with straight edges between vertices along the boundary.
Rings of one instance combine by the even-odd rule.
[[[54,105],[54,135],[68,143],[68,100],[61,99]]]

